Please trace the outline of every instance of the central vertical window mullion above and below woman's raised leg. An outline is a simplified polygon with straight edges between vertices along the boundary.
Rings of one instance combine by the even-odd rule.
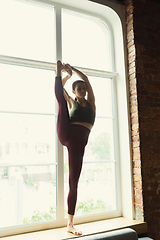
[[[62,21],[61,8],[55,7],[55,29],[56,29],[56,60],[62,59]],[[57,140],[58,141],[58,140]],[[63,162],[63,146],[57,142],[57,210],[58,221],[64,220],[64,162]]]

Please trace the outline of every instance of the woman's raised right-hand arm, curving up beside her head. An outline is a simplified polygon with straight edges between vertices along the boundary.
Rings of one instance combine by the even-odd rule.
[[[66,65],[69,66],[69,64],[66,64]],[[84,73],[82,73],[81,71],[79,71],[78,69],[76,69],[76,68],[74,68],[74,67],[72,67],[72,66],[70,66],[70,67],[71,67],[72,71],[73,71],[74,73],[76,73],[77,76],[80,77],[80,78],[85,82],[85,84],[86,84],[86,89],[87,89],[87,101],[90,103],[90,105],[92,106],[92,108],[93,108],[94,110],[96,110],[95,96],[94,96],[94,92],[93,92],[93,89],[92,89],[92,86],[91,86],[91,84],[90,84],[90,82],[89,82],[88,77],[87,77]]]

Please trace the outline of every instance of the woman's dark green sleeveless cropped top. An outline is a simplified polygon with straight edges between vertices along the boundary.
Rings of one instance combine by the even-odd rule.
[[[77,101],[75,101],[69,115],[71,122],[87,122],[93,125],[96,113],[86,100],[85,107],[82,107]]]

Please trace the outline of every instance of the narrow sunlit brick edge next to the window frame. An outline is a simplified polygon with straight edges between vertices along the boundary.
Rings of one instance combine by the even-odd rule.
[[[127,27],[127,49],[128,49],[128,81],[130,86],[130,114],[132,135],[132,164],[134,183],[134,210],[135,219],[144,220],[143,195],[142,195],[142,169],[140,154],[139,134],[139,111],[137,96],[137,53],[134,40],[133,1],[126,0],[126,27]]]

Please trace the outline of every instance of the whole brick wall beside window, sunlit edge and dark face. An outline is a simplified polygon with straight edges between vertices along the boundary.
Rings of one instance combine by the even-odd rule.
[[[160,239],[160,2],[126,0],[134,202]]]

